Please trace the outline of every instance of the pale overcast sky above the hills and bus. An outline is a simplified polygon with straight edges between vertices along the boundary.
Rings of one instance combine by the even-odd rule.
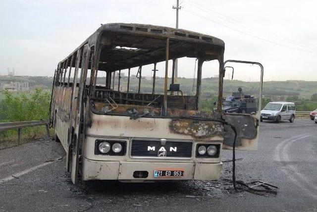
[[[0,0],[0,74],[14,68],[16,75],[53,76],[57,63],[101,24],[175,27],[173,5],[176,0]],[[222,39],[225,59],[261,62],[264,81],[317,81],[316,0],[180,0],[180,6],[179,28]],[[217,65],[204,64],[203,77],[214,76]],[[260,78],[255,65],[230,65],[234,79]],[[195,59],[180,59],[179,76],[192,78],[194,67]],[[158,75],[163,72],[159,66]]]

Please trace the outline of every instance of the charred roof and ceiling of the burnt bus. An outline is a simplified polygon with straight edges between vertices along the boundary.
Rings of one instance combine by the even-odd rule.
[[[109,23],[103,24],[73,53],[86,44],[100,45],[98,69],[115,71],[164,61],[166,38],[170,39],[169,59],[188,56],[210,60],[224,51],[222,40],[197,32],[148,24]]]

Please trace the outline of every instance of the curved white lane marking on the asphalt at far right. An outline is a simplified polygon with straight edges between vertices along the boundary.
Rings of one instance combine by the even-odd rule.
[[[299,170],[297,170],[295,166],[294,166],[295,171],[294,171],[294,170],[291,170],[291,171],[290,171],[290,170],[287,170],[286,167],[288,167],[288,169],[292,169],[292,168],[290,167],[291,165],[290,165],[290,164],[284,165],[284,164],[281,163],[281,162],[289,162],[289,161],[290,161],[290,159],[288,158],[288,156],[286,156],[286,158],[285,158],[285,154],[287,154],[287,153],[285,153],[285,150],[287,149],[287,147],[288,147],[290,144],[294,143],[295,141],[298,141],[298,140],[301,140],[301,139],[303,139],[303,138],[307,138],[307,137],[310,137],[310,136],[311,136],[311,135],[305,135],[305,136],[304,136],[304,134],[302,134],[302,135],[298,135],[298,136],[294,136],[294,137],[292,137],[292,138],[286,139],[286,140],[284,140],[283,142],[281,142],[279,145],[277,145],[277,147],[276,147],[276,149],[275,149],[275,160],[276,160],[277,162],[279,162],[281,165],[284,166],[284,168],[282,168],[281,171],[283,171],[283,172],[286,174],[286,176],[289,177],[289,178],[294,182],[295,185],[297,185],[299,188],[305,190],[309,196],[311,196],[311,197],[317,199],[317,195],[316,195],[314,192],[312,192],[310,189],[307,189],[307,188],[303,185],[304,183],[307,183],[306,178],[303,179],[301,176],[298,176],[298,177],[300,177],[301,179],[296,179],[296,178],[295,178],[294,172],[295,172],[295,174],[297,174],[297,173],[299,173]],[[290,141],[290,142],[288,142],[288,141]],[[284,144],[285,144],[285,146],[282,147]],[[298,175],[298,174],[297,174],[297,175]],[[304,180],[305,182],[303,182],[303,180]],[[314,186],[315,186],[315,185],[314,185]]]

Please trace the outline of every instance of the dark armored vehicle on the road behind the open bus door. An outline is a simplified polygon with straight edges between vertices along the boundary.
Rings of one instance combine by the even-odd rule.
[[[232,92],[232,96],[227,96],[222,101],[222,111],[227,113],[256,113],[256,99],[254,96],[244,95],[242,88],[238,92]]]

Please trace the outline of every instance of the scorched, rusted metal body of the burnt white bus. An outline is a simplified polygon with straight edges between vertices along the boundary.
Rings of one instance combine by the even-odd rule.
[[[67,165],[70,167],[72,164],[72,181],[77,180],[77,168],[82,169],[84,180],[134,180],[130,173],[132,169],[135,170],[141,165],[153,171],[155,166],[163,166],[167,162],[175,163],[178,167],[183,164],[185,173],[188,174],[186,179],[218,179],[221,152],[216,158],[198,158],[195,157],[196,146],[212,143],[222,149],[232,145],[227,139],[231,132],[226,131],[226,121],[236,126],[239,131],[237,149],[253,149],[253,141],[259,135],[256,118],[221,114],[223,53],[224,43],[220,39],[187,30],[142,24],[102,25],[73,53],[59,62],[56,71],[52,117],[55,132],[66,150]],[[173,84],[175,60],[180,57],[198,58],[195,96],[172,95],[172,92],[177,92],[172,89],[171,95],[167,95],[168,60],[173,60]],[[201,112],[198,111],[198,103],[201,95],[202,65],[204,61],[215,59],[219,61],[218,111]],[[162,61],[165,61],[164,95],[159,95],[155,93],[156,64]],[[154,64],[153,89],[152,94],[144,94],[141,92],[141,71],[142,66],[149,64]],[[73,83],[67,82],[66,86],[65,75],[68,67],[68,79],[71,75],[74,77]],[[75,67],[72,74],[71,67]],[[86,86],[88,67],[91,69],[91,76],[89,86]],[[139,67],[139,84],[138,92],[131,93],[130,68],[134,67]],[[81,75],[77,76],[79,68]],[[129,71],[126,93],[120,91],[120,70],[123,69]],[[98,71],[106,72],[106,86],[96,86]],[[117,91],[114,91],[115,71],[119,71]],[[164,160],[164,163],[161,159],[133,158],[130,157],[128,149],[132,138],[190,141],[192,157],[187,159],[187,162],[170,159]],[[123,156],[96,155],[96,139],[124,141],[127,152]],[[82,167],[78,166],[80,159]],[[125,168],[122,161],[131,170]],[[145,166],[145,162],[149,165]],[[154,180],[152,178],[151,175],[149,180]]]

